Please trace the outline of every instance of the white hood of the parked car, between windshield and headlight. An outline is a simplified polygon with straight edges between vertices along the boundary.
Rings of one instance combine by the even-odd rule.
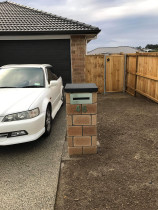
[[[43,91],[43,88],[0,89],[0,116],[27,111]]]

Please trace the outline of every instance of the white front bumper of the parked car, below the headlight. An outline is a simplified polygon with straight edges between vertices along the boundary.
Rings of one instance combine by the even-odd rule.
[[[45,113],[39,116],[20,121],[1,122],[0,118],[0,134],[6,134],[14,131],[26,131],[27,135],[16,137],[0,137],[0,146],[20,144],[38,139],[45,132]]]

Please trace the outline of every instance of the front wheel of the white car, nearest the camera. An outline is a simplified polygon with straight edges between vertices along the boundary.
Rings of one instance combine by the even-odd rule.
[[[46,110],[46,117],[45,117],[45,136],[49,136],[52,129],[52,116],[51,116],[51,108],[50,106],[47,107]]]

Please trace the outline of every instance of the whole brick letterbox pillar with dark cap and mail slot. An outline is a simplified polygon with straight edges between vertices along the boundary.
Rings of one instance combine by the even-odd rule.
[[[95,84],[67,84],[65,87],[70,156],[97,153],[97,91]]]

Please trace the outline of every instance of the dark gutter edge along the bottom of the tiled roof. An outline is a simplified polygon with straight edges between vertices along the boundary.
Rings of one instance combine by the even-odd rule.
[[[72,30],[72,31],[0,31],[0,35],[64,35],[64,34],[98,34],[101,30]]]

